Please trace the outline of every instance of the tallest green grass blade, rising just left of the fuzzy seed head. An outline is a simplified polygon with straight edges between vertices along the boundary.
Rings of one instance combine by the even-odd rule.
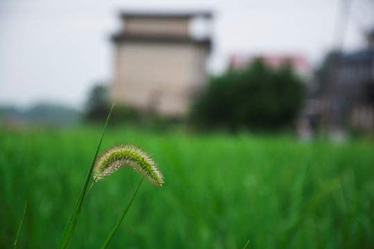
[[[71,239],[73,238],[73,232],[75,230],[75,226],[77,225],[78,216],[80,214],[80,211],[82,210],[82,203],[83,203],[86,191],[87,191],[87,186],[89,184],[89,179],[91,178],[92,170],[94,169],[96,158],[98,157],[98,151],[100,149],[100,145],[101,145],[101,142],[103,140],[105,129],[107,128],[107,124],[108,124],[108,121],[109,121],[110,114],[112,113],[113,107],[114,107],[114,104],[112,105],[112,108],[109,111],[107,121],[105,122],[105,126],[104,126],[104,129],[103,129],[103,133],[101,133],[100,141],[98,143],[98,147],[97,147],[96,152],[95,152],[94,160],[92,160],[92,164],[91,164],[91,167],[90,167],[89,172],[87,174],[86,181],[84,181],[84,185],[83,185],[82,190],[80,192],[80,196],[78,197],[78,201],[75,204],[73,214],[71,214],[69,222],[67,223],[66,228],[64,230],[64,234],[62,234],[62,239],[60,241],[60,246],[58,246],[59,249],[69,248]]]

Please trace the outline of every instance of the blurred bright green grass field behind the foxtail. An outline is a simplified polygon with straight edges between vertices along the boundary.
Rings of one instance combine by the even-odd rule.
[[[57,248],[101,128],[0,131],[0,248]],[[110,248],[374,248],[374,142],[107,129],[102,150],[150,151],[165,185],[143,183]],[[141,176],[97,183],[71,248],[99,248]]]

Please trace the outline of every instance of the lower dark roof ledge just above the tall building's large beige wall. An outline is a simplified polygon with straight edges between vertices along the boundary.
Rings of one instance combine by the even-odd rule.
[[[163,43],[163,44],[201,44],[211,48],[211,39],[193,39],[191,37],[178,37],[175,35],[137,35],[128,33],[118,33],[113,35],[112,41],[115,43],[123,42],[142,42],[142,43]]]

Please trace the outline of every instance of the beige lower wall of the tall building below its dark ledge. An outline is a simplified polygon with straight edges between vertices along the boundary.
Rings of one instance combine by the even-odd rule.
[[[118,44],[111,97],[144,111],[183,116],[206,82],[206,56],[197,44]]]

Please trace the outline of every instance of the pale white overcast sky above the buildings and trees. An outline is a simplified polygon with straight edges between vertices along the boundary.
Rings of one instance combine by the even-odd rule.
[[[112,79],[109,36],[120,10],[213,10],[211,73],[233,53],[299,53],[317,65],[335,44],[339,0],[0,0],[0,105],[54,102],[81,108],[96,82]],[[354,0],[344,48],[364,46],[374,1]]]

